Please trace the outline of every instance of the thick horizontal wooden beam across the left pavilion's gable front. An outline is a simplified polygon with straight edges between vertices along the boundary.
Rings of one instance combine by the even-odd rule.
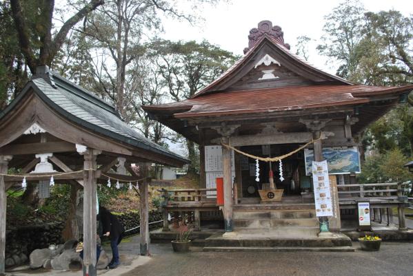
[[[6,145],[0,148],[0,155],[22,155],[37,153],[56,153],[76,151],[76,146],[70,142],[38,142],[30,144]]]

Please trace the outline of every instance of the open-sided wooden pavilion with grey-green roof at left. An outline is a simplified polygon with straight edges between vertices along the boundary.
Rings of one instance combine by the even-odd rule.
[[[0,275],[5,268],[6,191],[21,182],[83,187],[83,275],[97,275],[97,184],[139,180],[141,255],[148,255],[148,181],[145,164],[182,167],[185,158],[128,127],[114,107],[48,67],[0,113]],[[139,175],[131,169],[140,164]],[[8,175],[8,169],[19,171]],[[24,180],[23,180],[24,178]],[[114,183],[113,183],[114,185]]]

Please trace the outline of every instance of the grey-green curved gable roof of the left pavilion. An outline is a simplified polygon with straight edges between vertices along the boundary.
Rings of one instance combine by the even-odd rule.
[[[0,112],[0,120],[12,112],[30,91],[34,91],[55,112],[76,125],[118,142],[172,158],[177,162],[188,162],[182,156],[141,136],[121,119],[113,105],[106,103],[68,79],[48,72],[47,69],[45,74],[34,76],[12,103]]]

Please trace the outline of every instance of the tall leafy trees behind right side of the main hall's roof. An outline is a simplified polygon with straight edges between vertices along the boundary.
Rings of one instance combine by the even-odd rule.
[[[345,1],[325,17],[319,52],[339,61],[337,74],[365,85],[405,85],[413,82],[413,18],[400,12],[365,12]],[[382,153],[398,147],[413,154],[412,96],[365,132],[364,142]],[[405,150],[407,149],[407,150]]]

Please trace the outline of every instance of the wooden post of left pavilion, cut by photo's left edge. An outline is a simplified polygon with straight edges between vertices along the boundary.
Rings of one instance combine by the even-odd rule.
[[[8,162],[12,156],[0,156],[0,174],[6,174],[8,170]],[[5,261],[6,261],[6,183],[4,176],[0,176],[0,275],[6,275]]]

